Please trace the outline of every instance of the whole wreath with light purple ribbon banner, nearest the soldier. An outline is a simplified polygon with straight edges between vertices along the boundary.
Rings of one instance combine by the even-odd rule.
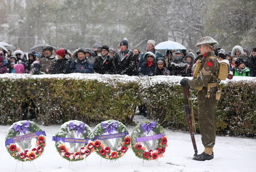
[[[139,123],[132,131],[131,145],[135,155],[144,160],[163,157],[167,145],[164,128],[155,121]]]

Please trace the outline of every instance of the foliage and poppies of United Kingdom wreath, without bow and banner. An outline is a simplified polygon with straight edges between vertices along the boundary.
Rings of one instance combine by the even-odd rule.
[[[91,128],[86,125],[85,123],[85,129],[84,134],[79,133],[77,136],[77,132],[75,130],[70,130],[70,122],[76,124],[79,126],[80,124],[84,123],[82,121],[78,120],[70,120],[68,122],[65,122],[57,133],[55,134],[55,137],[64,137],[64,138],[78,138],[78,139],[93,139],[94,134],[92,133]],[[92,144],[92,146],[90,146]],[[89,156],[92,152],[94,152],[93,148],[94,142],[88,141],[88,143],[70,143],[70,142],[63,142],[62,140],[55,142],[55,147],[60,156],[62,156],[64,159],[68,161],[80,161],[84,160],[87,156]]]

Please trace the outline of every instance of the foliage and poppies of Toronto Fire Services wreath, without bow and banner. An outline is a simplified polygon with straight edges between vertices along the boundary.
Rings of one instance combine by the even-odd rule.
[[[107,120],[103,121],[104,123],[111,124],[116,120]],[[126,126],[119,121],[117,131],[113,131],[115,133],[128,132]],[[103,133],[105,129],[102,128],[101,123],[97,124],[94,128],[95,136],[102,136],[108,133]],[[97,139],[95,140],[95,150],[98,155],[100,155],[104,159],[109,160],[117,160],[118,158],[124,156],[127,150],[130,148],[130,137],[127,135],[125,137],[111,138],[111,139]]]

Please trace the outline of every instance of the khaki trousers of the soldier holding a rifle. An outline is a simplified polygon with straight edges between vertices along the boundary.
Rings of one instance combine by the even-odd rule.
[[[216,108],[218,101],[215,94],[217,87],[212,87],[212,93],[208,98],[207,104],[207,87],[203,87],[198,92],[198,121],[201,132],[201,139],[204,147],[212,148],[215,144],[216,137]]]

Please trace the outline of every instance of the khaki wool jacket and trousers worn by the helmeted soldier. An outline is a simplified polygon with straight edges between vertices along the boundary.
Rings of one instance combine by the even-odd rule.
[[[193,79],[188,80],[188,85],[198,90],[198,121],[202,143],[207,148],[212,148],[215,144],[218,70],[219,63],[214,51],[207,52],[198,60]]]

